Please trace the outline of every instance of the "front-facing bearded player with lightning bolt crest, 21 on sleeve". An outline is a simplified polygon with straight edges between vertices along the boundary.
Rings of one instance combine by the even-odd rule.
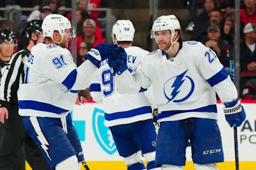
[[[196,170],[218,169],[216,163],[224,158],[215,92],[225,105],[225,117],[232,127],[245,120],[237,90],[212,49],[197,41],[182,41],[180,23],[174,15],[157,18],[152,36],[159,49],[138,66],[135,77],[121,62],[125,54],[108,58],[117,72],[114,79],[118,91],[132,94],[141,87],[153,86],[160,122],[156,164],[162,169],[183,169],[188,140]],[[205,154],[212,149],[218,151]]]

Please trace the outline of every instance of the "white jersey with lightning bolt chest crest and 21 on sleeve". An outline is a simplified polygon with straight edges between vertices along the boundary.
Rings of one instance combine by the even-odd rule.
[[[237,99],[236,88],[217,55],[197,41],[180,43],[170,60],[158,49],[139,65],[135,79],[125,71],[116,75],[115,81],[123,94],[151,84],[158,122],[189,117],[217,119],[215,91],[222,103]]]

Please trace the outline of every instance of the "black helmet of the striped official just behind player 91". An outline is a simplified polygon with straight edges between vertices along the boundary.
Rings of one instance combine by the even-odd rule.
[[[42,23],[43,23],[43,21],[41,21],[41,20],[31,20],[31,21],[27,22],[27,24],[26,24],[27,37],[29,38],[31,36],[31,32],[35,32],[36,36],[38,36],[39,33],[43,31]]]

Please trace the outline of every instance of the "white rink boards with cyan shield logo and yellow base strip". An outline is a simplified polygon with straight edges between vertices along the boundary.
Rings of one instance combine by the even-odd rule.
[[[240,169],[256,169],[256,102],[243,101],[246,111],[245,122],[237,128]],[[91,170],[126,169],[118,155],[109,129],[104,125],[104,111],[101,104],[85,103],[73,109],[73,123],[77,129],[84,150],[85,160]],[[235,169],[233,128],[225,120],[223,105],[217,104],[218,125],[222,136],[225,163],[219,169]],[[194,169],[190,147],[187,148],[185,169]],[[83,169],[83,168],[82,168]]]

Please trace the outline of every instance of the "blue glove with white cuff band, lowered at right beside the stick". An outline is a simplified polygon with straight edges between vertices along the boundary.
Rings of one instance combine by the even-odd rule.
[[[246,117],[241,101],[236,99],[230,103],[224,103],[224,105],[223,109],[229,126],[241,126]]]

